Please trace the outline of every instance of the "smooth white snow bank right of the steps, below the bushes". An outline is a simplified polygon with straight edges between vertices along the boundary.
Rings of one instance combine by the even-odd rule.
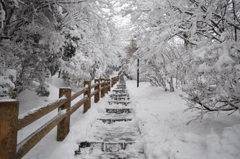
[[[127,82],[145,142],[148,159],[238,159],[240,158],[240,117],[226,113],[209,114],[202,121],[195,112],[184,112],[180,92],[164,92],[148,83]],[[191,85],[183,89],[191,90]]]

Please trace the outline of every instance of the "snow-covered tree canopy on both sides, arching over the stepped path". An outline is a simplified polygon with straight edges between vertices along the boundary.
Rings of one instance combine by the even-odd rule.
[[[46,96],[57,71],[67,83],[108,76],[122,63],[141,80],[174,91],[189,108],[240,105],[240,2],[237,0],[0,0],[0,95],[25,89]],[[129,16],[125,31],[115,15]],[[119,23],[119,21],[118,21]],[[120,22],[121,23],[121,22]],[[121,33],[121,34],[120,34]],[[130,42],[129,42],[130,41]],[[106,60],[107,59],[107,60]]]

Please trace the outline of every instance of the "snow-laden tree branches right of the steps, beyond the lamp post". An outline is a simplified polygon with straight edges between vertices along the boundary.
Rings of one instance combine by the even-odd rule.
[[[123,11],[139,26],[148,77],[181,78],[189,108],[201,114],[239,109],[239,1],[134,0]]]

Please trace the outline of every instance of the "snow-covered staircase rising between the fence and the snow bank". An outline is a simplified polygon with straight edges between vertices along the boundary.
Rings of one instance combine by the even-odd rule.
[[[109,95],[104,113],[92,126],[87,141],[75,151],[81,159],[145,159],[140,131],[123,77]],[[141,146],[140,146],[141,147]]]

